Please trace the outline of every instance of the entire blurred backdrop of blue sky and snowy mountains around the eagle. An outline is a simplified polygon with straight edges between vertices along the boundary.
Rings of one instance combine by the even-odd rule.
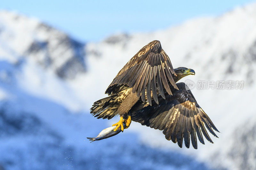
[[[249,0],[1,2],[1,168],[256,169],[255,11]],[[174,68],[196,71],[193,82],[244,81],[191,90],[219,138],[180,148],[132,122],[89,143],[118,120],[94,118],[92,103],[153,40]]]

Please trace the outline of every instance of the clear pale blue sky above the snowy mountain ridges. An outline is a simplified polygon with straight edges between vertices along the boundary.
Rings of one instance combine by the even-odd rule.
[[[72,3],[70,3],[72,2]],[[0,9],[36,17],[80,41],[100,41],[117,32],[148,32],[200,16],[216,16],[252,0],[215,1],[2,1]]]

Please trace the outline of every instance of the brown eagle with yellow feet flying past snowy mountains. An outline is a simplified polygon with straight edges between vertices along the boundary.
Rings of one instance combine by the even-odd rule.
[[[211,143],[208,131],[215,137],[219,132],[181,78],[195,75],[186,67],[173,69],[160,41],[152,41],[140,49],[118,72],[108,86],[109,96],[94,102],[91,114],[98,119],[120,116],[121,130],[132,121],[150,128],[163,130],[167,140],[182,147],[197,149],[197,138],[204,144],[203,136]],[[123,123],[126,127],[124,128]]]

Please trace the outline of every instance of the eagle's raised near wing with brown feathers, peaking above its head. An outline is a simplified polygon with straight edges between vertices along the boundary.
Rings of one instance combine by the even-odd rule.
[[[116,93],[117,87],[128,85],[132,88],[132,92],[137,92],[137,96],[141,96],[141,100],[145,102],[147,89],[147,99],[150,99],[148,102],[151,105],[151,90],[154,100],[158,103],[157,91],[164,99],[164,89],[168,94],[172,94],[168,80],[174,88],[178,89],[172,74],[176,76],[172,63],[162,49],[160,41],[155,40],[148,43],[125,64],[105,93],[108,95]]]

